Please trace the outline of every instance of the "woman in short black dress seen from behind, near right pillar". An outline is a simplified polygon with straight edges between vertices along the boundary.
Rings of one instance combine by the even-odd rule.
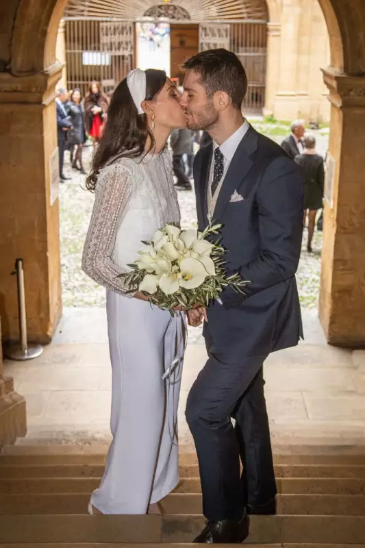
[[[325,187],[325,166],[323,158],[316,153],[316,138],[313,134],[304,136],[303,154],[295,157],[295,161],[304,175],[304,217],[308,215],[307,251],[312,253],[312,238],[316,224],[317,211],[323,208],[323,189]]]

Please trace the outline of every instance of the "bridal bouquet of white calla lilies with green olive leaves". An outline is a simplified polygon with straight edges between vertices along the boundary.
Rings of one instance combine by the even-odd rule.
[[[225,249],[207,239],[222,225],[208,226],[204,232],[165,225],[150,242],[142,242],[139,258],[122,274],[131,291],[149,295],[149,300],[173,314],[176,306],[189,310],[207,306],[231,286],[244,295],[247,284],[238,274],[226,277]]]

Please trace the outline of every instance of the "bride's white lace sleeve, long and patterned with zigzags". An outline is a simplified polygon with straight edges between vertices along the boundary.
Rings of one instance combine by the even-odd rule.
[[[118,275],[127,271],[114,262],[112,252],[118,221],[123,219],[130,196],[130,174],[120,164],[99,176],[81,265],[97,284],[123,295],[129,288]]]

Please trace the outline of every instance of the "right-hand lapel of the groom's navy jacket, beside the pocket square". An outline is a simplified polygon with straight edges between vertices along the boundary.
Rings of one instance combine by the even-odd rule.
[[[240,144],[237,147],[234,157],[229,165],[227,175],[223,182],[221,192],[219,192],[216,202],[216,208],[214,210],[213,219],[219,221],[221,219],[225,208],[227,207],[231,195],[240,186],[244,177],[247,176],[251,167],[253,166],[253,160],[250,155],[257,149],[257,132],[250,126],[247,134],[244,135]]]

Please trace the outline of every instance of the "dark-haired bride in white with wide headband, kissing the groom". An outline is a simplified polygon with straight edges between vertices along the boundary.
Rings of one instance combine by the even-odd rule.
[[[184,313],[172,318],[140,292],[126,294],[118,277],[138,258],[141,240],[180,221],[166,148],[178,127],[186,127],[186,119],[166,73],[131,71],[114,92],[86,179],[95,205],[82,269],[107,289],[113,435],[89,513],[159,513],[158,501],[179,479],[175,434]]]

